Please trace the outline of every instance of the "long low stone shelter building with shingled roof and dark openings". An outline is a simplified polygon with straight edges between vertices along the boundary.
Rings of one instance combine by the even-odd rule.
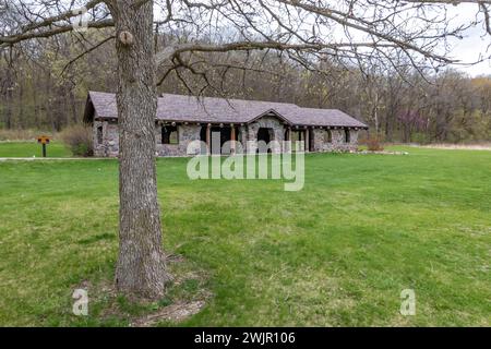
[[[118,156],[116,95],[89,92],[84,121],[93,125],[95,156]],[[301,141],[306,152],[351,152],[358,147],[360,130],[368,127],[336,109],[215,97],[197,99],[173,94],[158,98],[155,119],[158,156],[190,155],[188,145],[196,140],[205,142],[211,149],[212,133],[218,132],[220,145],[237,141],[247,154],[258,152],[259,141],[279,142],[279,148],[271,149],[274,153],[288,151],[283,148],[283,141]],[[201,152],[205,151],[195,149]]]

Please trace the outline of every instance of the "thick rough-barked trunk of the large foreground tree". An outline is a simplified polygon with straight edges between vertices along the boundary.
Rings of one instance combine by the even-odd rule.
[[[155,299],[164,296],[167,272],[155,168],[153,1],[134,3],[110,2],[118,37],[120,226],[116,286],[124,294]]]

